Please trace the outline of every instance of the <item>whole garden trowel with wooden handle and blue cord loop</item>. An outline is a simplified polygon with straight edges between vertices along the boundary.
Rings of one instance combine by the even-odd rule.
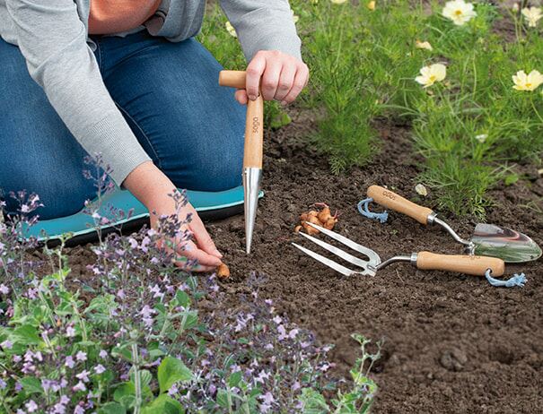
[[[439,224],[451,234],[454,240],[465,246],[467,254],[498,257],[507,263],[530,262],[541,256],[541,248],[537,243],[518,231],[494,224],[479,223],[471,239],[466,240],[451,229],[449,224],[439,219],[437,213],[432,209],[410,202],[387,188],[371,185],[367,190],[367,195],[372,199],[371,201],[390,210],[406,214],[421,224]],[[370,199],[364,202],[368,203],[369,201]],[[366,215],[360,204],[359,210],[363,215]],[[370,212],[370,214],[372,213]]]

